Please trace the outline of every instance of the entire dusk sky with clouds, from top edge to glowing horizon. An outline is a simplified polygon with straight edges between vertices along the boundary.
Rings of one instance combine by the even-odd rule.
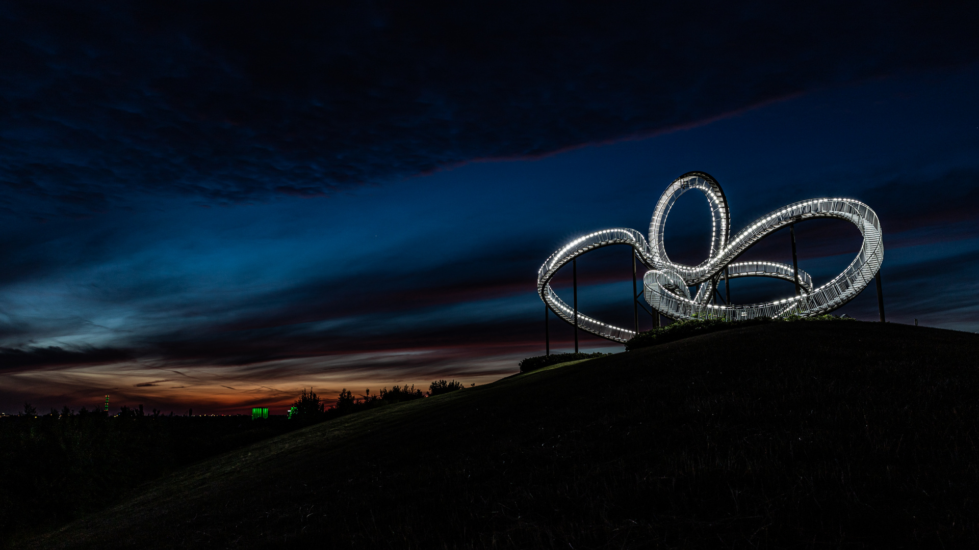
[[[0,2],[0,412],[487,383],[543,353],[547,255],[645,232],[690,170],[734,231],[868,204],[888,320],[979,331],[975,2],[327,4]],[[708,212],[680,199],[671,257],[706,256]],[[817,285],[861,242],[797,241]],[[788,235],[747,257],[790,262]],[[631,325],[628,248],[579,278]],[[872,287],[838,313],[876,319]]]

